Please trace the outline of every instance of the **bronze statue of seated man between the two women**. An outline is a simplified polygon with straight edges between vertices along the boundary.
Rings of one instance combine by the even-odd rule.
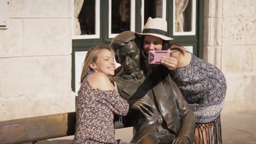
[[[110,43],[122,66],[112,80],[130,105],[123,121],[133,127],[131,143],[193,143],[193,111],[170,76],[161,75],[164,67],[144,68],[137,39],[133,32],[125,31]]]

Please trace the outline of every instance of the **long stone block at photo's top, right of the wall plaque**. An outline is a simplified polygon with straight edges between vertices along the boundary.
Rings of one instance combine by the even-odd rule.
[[[71,17],[72,0],[10,0],[10,17]]]

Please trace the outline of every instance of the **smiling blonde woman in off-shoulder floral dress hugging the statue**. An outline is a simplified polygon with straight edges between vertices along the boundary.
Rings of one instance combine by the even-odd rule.
[[[114,139],[114,115],[125,116],[129,104],[110,82],[114,75],[114,52],[95,46],[87,52],[78,91],[77,122],[72,143],[122,143]]]

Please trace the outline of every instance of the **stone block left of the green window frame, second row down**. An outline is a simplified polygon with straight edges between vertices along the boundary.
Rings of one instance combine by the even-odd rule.
[[[68,55],[71,52],[70,19],[24,20],[24,56]]]

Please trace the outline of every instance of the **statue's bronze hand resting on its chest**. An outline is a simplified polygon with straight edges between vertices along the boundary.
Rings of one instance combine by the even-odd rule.
[[[131,105],[131,108],[141,111],[146,118],[151,118],[154,114],[152,105],[146,103],[143,99],[135,101],[135,103]]]

